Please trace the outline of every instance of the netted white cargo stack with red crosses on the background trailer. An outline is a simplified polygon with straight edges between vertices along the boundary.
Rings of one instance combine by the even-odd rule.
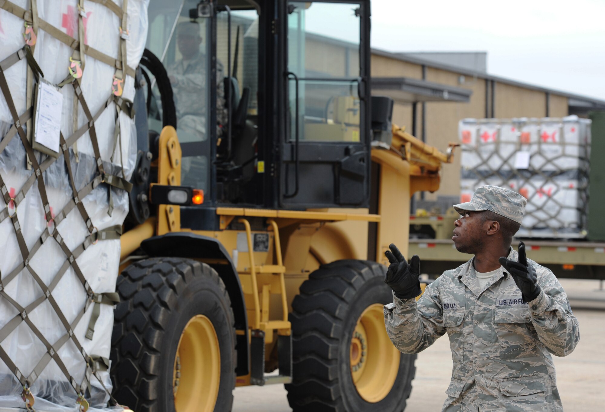
[[[464,119],[461,202],[482,185],[508,187],[528,200],[518,237],[584,238],[590,121]]]

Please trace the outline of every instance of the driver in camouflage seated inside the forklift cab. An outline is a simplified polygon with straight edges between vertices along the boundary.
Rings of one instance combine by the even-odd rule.
[[[206,88],[208,56],[200,53],[201,41],[197,22],[180,22],[177,26],[177,44],[183,58],[170,64],[166,70],[174,91],[177,126],[195,136],[196,141],[206,140],[208,116],[206,112],[206,96],[209,96]],[[223,64],[217,60],[217,136],[221,136],[222,128],[227,125],[223,78]]]

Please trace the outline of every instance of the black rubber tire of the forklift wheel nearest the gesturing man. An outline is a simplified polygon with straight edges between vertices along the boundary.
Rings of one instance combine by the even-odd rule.
[[[363,399],[352,379],[351,336],[372,304],[393,302],[387,268],[370,261],[322,265],[292,302],[293,381],[286,385],[293,412],[401,412],[410,397],[416,355],[401,354],[393,387],[378,402]]]

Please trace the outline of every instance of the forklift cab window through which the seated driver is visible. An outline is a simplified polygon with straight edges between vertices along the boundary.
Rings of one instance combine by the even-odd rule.
[[[183,150],[181,185],[200,188],[209,198],[210,146],[210,24],[189,17],[185,2],[152,1],[146,48],[161,61],[172,85],[177,135]],[[180,12],[180,14],[179,14]],[[217,73],[222,84],[223,75]],[[155,79],[149,113],[150,132],[162,131],[162,104]],[[215,80],[215,81],[218,81]]]

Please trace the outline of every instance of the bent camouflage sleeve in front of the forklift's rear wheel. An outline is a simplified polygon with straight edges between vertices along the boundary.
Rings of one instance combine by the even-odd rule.
[[[418,302],[399,299],[393,293],[393,303],[385,305],[385,327],[399,351],[419,353],[445,333],[438,290],[439,279],[427,286]]]

